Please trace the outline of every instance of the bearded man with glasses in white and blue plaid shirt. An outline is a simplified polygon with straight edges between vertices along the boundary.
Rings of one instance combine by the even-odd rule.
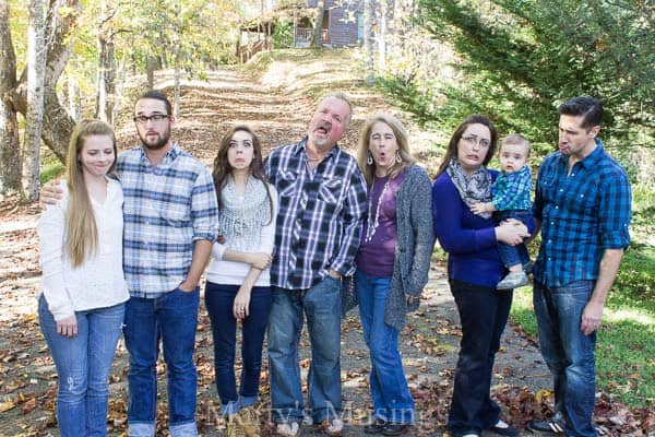
[[[209,169],[171,141],[175,118],[164,93],[148,91],[139,97],[134,123],[141,144],[121,153],[117,165],[130,290],[123,328],[130,353],[128,434],[155,435],[162,342],[170,435],[196,436],[198,282],[217,235],[216,192]],[[41,201],[57,201],[49,186]]]

